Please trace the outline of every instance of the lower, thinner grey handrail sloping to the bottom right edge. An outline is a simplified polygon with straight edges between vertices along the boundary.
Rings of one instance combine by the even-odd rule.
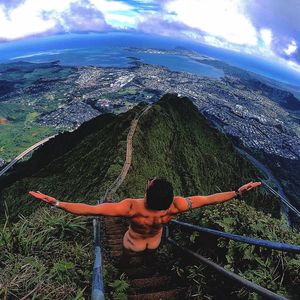
[[[267,299],[276,299],[276,300],[287,300],[286,298],[284,298],[283,296],[277,295],[275,293],[273,293],[272,291],[263,288],[262,286],[257,285],[256,283],[253,283],[233,272],[227,271],[224,268],[222,268],[221,266],[219,266],[218,264],[210,261],[209,259],[203,257],[202,255],[195,253],[185,247],[181,247],[179,246],[175,241],[173,241],[171,238],[168,238],[167,241],[169,243],[171,243],[172,245],[174,245],[175,247],[179,248],[180,250],[184,251],[185,253],[197,258],[198,260],[200,260],[202,263],[206,264],[207,266],[213,268],[215,271],[221,273],[222,275],[224,275],[225,277],[228,277],[234,281],[236,281],[237,283],[245,286],[247,289],[256,292],[257,294],[261,295]]]

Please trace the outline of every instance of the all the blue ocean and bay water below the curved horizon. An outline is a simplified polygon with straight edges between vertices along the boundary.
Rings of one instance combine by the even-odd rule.
[[[31,62],[60,60],[68,65],[127,67],[130,62],[127,56],[139,56],[145,62],[164,65],[173,71],[188,71],[217,78],[223,76],[221,70],[186,57],[128,53],[125,51],[128,47],[145,49],[185,47],[274,80],[300,85],[298,72],[275,61],[189,41],[121,32],[64,34],[0,43],[0,63],[16,60]]]

